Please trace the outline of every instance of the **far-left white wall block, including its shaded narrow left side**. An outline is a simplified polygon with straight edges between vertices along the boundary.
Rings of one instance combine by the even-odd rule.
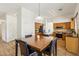
[[[9,42],[17,38],[17,18],[14,14],[6,14],[2,23],[2,40]]]

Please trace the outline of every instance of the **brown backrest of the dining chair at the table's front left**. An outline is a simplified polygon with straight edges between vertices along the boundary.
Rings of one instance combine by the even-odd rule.
[[[29,50],[28,50],[27,43],[21,40],[18,40],[18,43],[20,46],[21,55],[28,56]]]

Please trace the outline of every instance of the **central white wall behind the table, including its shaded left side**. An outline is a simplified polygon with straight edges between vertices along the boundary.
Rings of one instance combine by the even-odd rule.
[[[35,15],[32,11],[21,8],[20,11],[17,13],[18,18],[17,18],[17,25],[18,26],[18,38],[20,37],[25,37],[25,35],[32,34],[34,35],[35,33],[35,28],[34,28],[34,21],[35,21]],[[20,33],[19,33],[20,32]]]

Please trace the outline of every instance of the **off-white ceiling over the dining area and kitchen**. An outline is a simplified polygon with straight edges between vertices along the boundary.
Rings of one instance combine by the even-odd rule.
[[[40,3],[40,15],[44,17],[72,17],[76,3]],[[0,3],[0,18],[6,13],[16,13],[17,9],[25,7],[38,15],[38,3]],[[59,9],[62,9],[59,11]]]

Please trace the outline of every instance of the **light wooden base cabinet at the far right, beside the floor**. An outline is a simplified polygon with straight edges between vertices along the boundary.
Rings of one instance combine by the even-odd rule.
[[[79,55],[79,40],[77,37],[66,37],[66,49]]]

